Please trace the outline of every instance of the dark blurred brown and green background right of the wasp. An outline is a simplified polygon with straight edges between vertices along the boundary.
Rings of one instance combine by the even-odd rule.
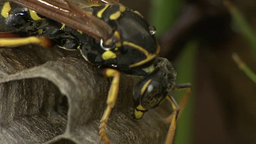
[[[192,83],[174,143],[255,144],[256,84],[232,54],[256,72],[256,0],[120,2],[156,27],[160,56],[174,63],[177,83]]]

